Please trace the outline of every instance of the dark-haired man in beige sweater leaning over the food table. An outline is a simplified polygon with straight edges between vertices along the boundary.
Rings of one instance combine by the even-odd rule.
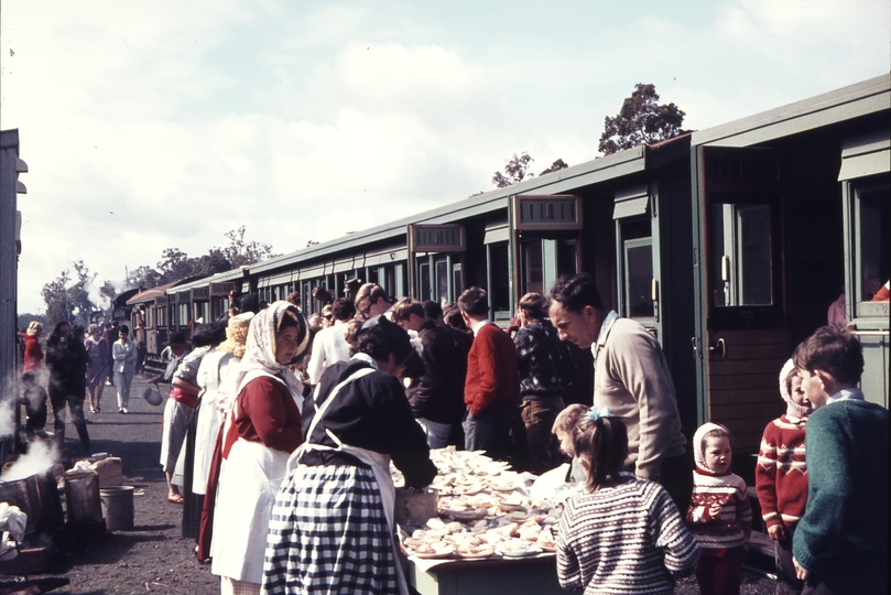
[[[594,354],[594,407],[608,407],[628,428],[627,469],[662,484],[677,508],[686,510],[693,466],[659,342],[635,321],[607,312],[587,273],[562,277],[551,300],[559,338]]]

